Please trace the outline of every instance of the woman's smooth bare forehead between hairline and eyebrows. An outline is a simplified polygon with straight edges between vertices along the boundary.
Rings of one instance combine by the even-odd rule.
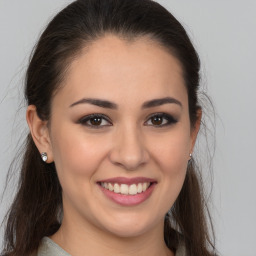
[[[168,94],[187,97],[181,65],[164,47],[146,37],[127,41],[115,35],[83,49],[71,63],[58,94],[70,101],[85,96],[113,101]]]

